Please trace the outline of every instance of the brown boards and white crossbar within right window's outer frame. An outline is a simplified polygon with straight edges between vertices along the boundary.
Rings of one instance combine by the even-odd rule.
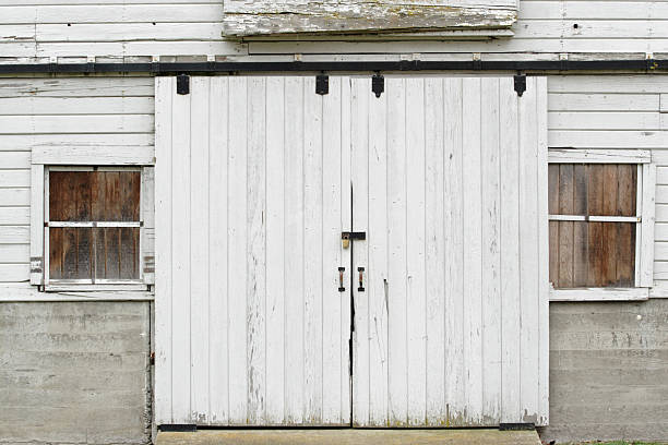
[[[637,171],[633,164],[549,166],[554,288],[635,285]]]

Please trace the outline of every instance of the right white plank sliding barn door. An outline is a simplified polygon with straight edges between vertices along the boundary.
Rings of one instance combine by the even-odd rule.
[[[546,80],[351,85],[354,424],[547,424]]]

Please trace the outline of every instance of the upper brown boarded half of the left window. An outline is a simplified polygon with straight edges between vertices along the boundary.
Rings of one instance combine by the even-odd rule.
[[[139,171],[50,171],[49,220],[139,221]]]

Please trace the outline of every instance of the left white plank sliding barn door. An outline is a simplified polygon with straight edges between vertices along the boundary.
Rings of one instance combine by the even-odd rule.
[[[350,423],[349,86],[156,77],[157,424]]]

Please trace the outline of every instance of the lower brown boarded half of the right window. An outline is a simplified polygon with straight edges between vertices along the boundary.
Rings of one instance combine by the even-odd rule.
[[[633,222],[550,221],[550,281],[554,288],[632,287]]]

